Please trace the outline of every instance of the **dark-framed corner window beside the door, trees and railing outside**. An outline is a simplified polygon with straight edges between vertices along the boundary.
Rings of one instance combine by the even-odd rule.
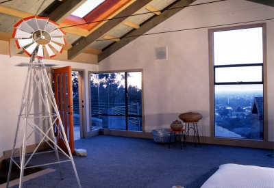
[[[141,72],[90,73],[92,129],[142,131]]]

